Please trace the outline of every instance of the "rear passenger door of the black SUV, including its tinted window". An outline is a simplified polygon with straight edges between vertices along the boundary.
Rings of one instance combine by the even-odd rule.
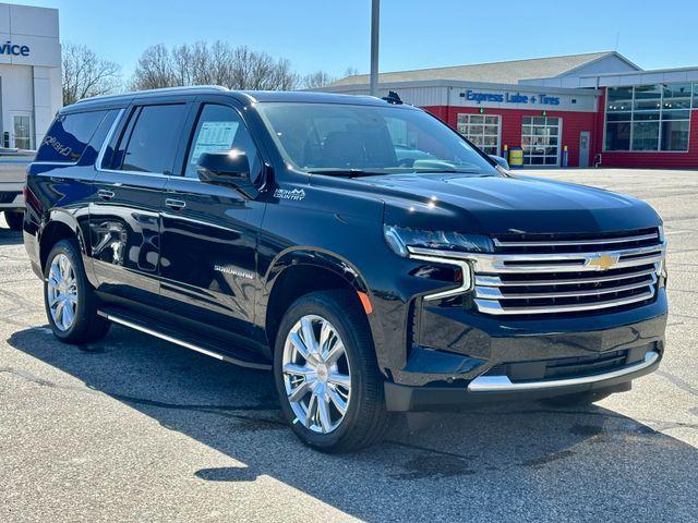
[[[191,106],[181,99],[133,105],[98,159],[89,229],[106,300],[159,305],[160,208]]]

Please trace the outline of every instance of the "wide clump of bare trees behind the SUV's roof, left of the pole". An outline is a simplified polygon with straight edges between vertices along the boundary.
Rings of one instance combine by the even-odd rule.
[[[279,90],[296,88],[299,78],[288,60],[219,40],[210,46],[183,44],[171,50],[163,45],[151,47],[141,56],[133,77],[136,89],[205,84]]]

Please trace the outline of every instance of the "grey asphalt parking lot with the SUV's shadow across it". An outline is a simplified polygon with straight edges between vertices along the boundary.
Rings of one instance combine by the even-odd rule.
[[[265,373],[120,327],[82,349],[56,341],[0,218],[0,521],[696,521],[698,171],[543,175],[664,218],[661,369],[589,409],[400,418],[341,457],[292,436]]]

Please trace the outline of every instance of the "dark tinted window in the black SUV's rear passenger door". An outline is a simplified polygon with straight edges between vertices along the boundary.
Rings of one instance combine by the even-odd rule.
[[[124,171],[170,174],[186,106],[145,106],[124,147]]]

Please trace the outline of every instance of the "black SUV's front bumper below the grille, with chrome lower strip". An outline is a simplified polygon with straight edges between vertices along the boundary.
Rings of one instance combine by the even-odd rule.
[[[621,318],[631,320],[615,323]],[[432,319],[428,326],[434,333],[432,339],[455,339],[447,336],[448,327],[460,321],[447,321],[443,316]],[[589,330],[580,331],[585,325]],[[399,379],[385,384],[387,409],[460,410],[473,403],[629,390],[633,379],[658,368],[664,351],[665,325],[664,289],[650,306],[595,320],[557,320],[537,332],[512,325],[505,330],[491,330],[482,324],[460,324],[464,330],[458,332],[459,343],[438,345],[446,350],[411,350],[407,365],[394,374]],[[581,363],[569,364],[570,360]],[[611,360],[615,363],[605,363]],[[565,374],[566,365],[574,368]]]

